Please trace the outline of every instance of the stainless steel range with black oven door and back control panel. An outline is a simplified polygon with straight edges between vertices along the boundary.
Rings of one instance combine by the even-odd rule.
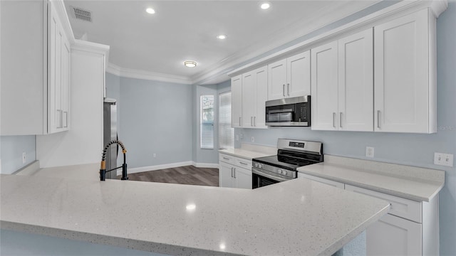
[[[298,177],[300,166],[323,161],[323,144],[297,139],[279,139],[277,155],[252,159],[252,188]]]

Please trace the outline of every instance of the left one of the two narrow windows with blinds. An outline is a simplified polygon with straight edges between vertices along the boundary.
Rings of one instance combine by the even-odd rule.
[[[201,96],[201,148],[214,149],[214,95]]]

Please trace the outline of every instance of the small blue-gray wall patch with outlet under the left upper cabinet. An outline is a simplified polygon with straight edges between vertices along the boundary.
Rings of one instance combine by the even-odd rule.
[[[26,163],[22,164],[22,153],[26,152]],[[14,171],[36,160],[36,139],[34,135],[0,137],[1,174]]]

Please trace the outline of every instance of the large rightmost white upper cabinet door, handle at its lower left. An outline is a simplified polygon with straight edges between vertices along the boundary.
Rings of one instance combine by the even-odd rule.
[[[374,31],[375,131],[430,132],[427,9]]]

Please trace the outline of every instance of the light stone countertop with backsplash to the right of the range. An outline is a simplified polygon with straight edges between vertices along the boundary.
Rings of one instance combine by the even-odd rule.
[[[325,155],[298,171],[413,201],[429,202],[445,185],[445,171]]]

